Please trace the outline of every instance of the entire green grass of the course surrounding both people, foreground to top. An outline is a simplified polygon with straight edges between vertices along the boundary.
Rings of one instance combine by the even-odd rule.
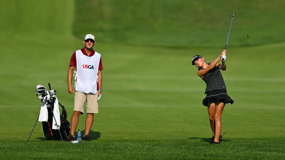
[[[181,10],[176,21],[174,11],[163,9],[171,7],[170,1],[153,3],[156,12],[145,17],[141,10],[150,2],[145,1],[137,12],[132,6],[139,1],[117,3],[92,1],[94,8],[101,6],[94,13],[102,15],[92,19],[94,15],[86,10],[80,12],[90,6],[77,0],[0,2],[2,159],[284,159],[284,22],[278,18],[281,24],[275,28],[263,25],[254,30],[251,20],[255,24],[263,21],[246,16],[263,9],[265,2],[250,12],[243,7],[253,4],[226,4],[227,11],[219,12],[210,7],[217,7],[218,2],[205,6],[197,2],[202,10],[211,8],[219,15],[207,19],[202,14],[201,21],[199,15],[190,16],[199,25],[184,21],[189,17],[187,7],[195,8],[187,1],[173,4],[174,11]],[[260,12],[259,17],[276,18],[282,7],[283,3],[275,11]],[[121,8],[126,11],[113,13]],[[221,73],[235,102],[227,104],[222,114],[221,144],[210,146],[212,131],[207,107],[202,105],[206,85],[191,60],[197,54],[205,60],[220,54],[233,10],[236,17],[227,47],[227,70]],[[88,28],[90,19],[94,27]],[[139,20],[145,26],[137,24]],[[170,21],[168,28],[164,24]],[[120,26],[117,30],[115,24]],[[40,111],[35,96],[38,84],[47,87],[50,83],[57,90],[70,121],[74,95],[67,91],[67,69],[87,33],[95,35],[93,49],[102,55],[104,68],[103,96],[90,132],[93,140],[81,144],[47,141],[38,122],[27,143]],[[243,40],[244,34],[249,35],[248,41]],[[82,133],[85,116],[80,116],[77,127]]]

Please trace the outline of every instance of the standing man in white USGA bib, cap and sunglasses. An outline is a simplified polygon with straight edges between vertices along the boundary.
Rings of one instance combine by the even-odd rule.
[[[67,72],[68,92],[75,93],[74,111],[71,118],[70,135],[66,141],[75,140],[75,130],[80,114],[84,113],[83,105],[86,103],[85,133],[82,140],[90,141],[89,132],[93,124],[94,113],[98,111],[98,97],[102,92],[102,60],[101,55],[92,48],[95,37],[87,34],[84,38],[84,47],[75,51],[70,59]],[[75,68],[75,92],[71,85],[72,74]]]

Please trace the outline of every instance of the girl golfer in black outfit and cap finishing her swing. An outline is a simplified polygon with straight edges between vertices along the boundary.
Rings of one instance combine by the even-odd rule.
[[[210,126],[213,131],[211,138],[211,145],[219,145],[221,136],[221,115],[223,113],[226,103],[234,103],[234,101],[227,95],[227,88],[224,79],[221,75],[220,69],[225,71],[227,66],[226,50],[223,50],[219,57],[212,63],[206,63],[204,58],[200,55],[195,55],[192,59],[192,65],[198,67],[198,76],[206,82],[206,97],[203,99],[203,105],[208,106],[208,113],[210,119]],[[222,64],[218,61],[221,58]]]

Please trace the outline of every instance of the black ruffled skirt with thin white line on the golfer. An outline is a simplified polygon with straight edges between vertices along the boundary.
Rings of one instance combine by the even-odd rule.
[[[234,103],[231,97],[227,95],[227,91],[224,89],[221,90],[214,90],[207,92],[206,97],[203,99],[203,105],[208,107],[208,103]]]

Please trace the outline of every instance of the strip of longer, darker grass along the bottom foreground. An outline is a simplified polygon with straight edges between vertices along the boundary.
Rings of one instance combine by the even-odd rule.
[[[283,159],[285,156],[285,141],[280,138],[227,139],[219,147],[208,145],[208,141],[207,138],[98,140],[81,144],[9,141],[0,142],[0,149],[9,159]]]

